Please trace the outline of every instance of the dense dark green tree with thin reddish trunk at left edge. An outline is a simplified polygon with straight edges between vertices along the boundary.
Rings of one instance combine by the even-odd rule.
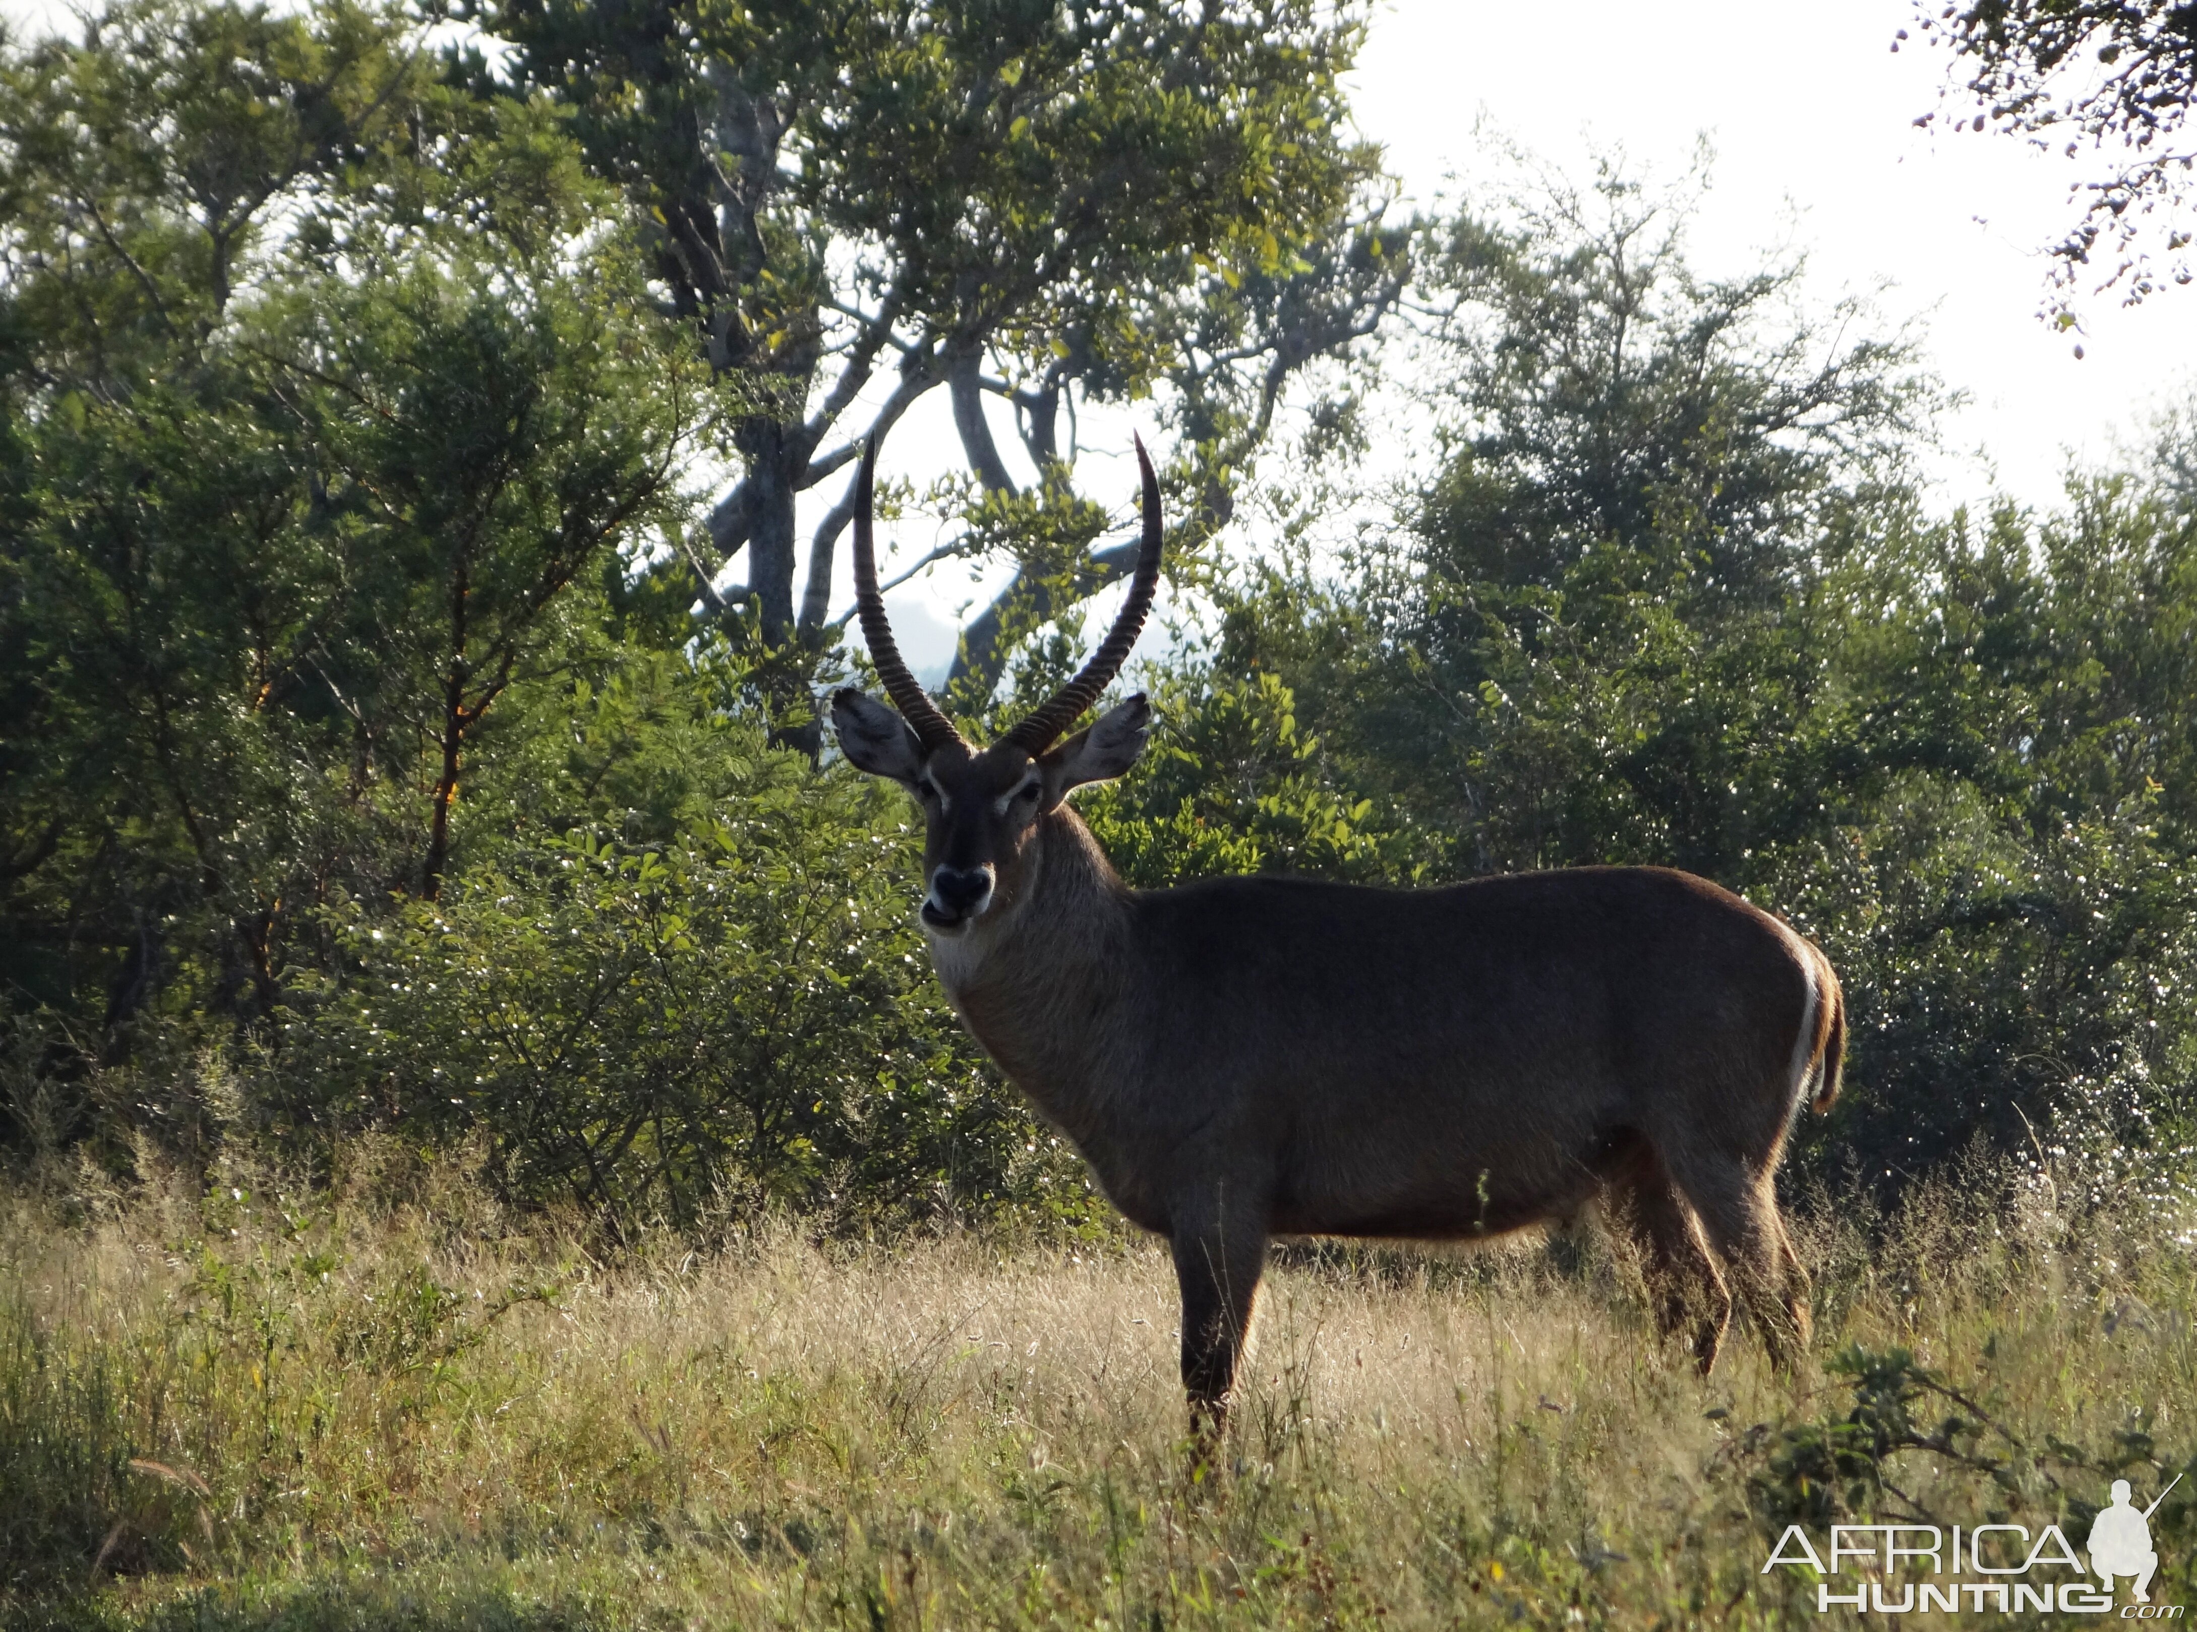
[[[406,29],[149,0],[0,68],[4,969],[110,1054],[435,894],[497,701],[677,525],[690,365],[600,187]]]

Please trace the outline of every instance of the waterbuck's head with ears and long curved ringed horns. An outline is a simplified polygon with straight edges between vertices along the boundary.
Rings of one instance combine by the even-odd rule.
[[[1151,707],[1142,692],[1059,740],[1129,657],[1160,582],[1160,481],[1142,439],[1136,461],[1145,477],[1145,545],[1114,628],[1044,707],[997,742],[978,747],[953,729],[892,641],[870,527],[877,444],[863,452],[855,499],[855,608],[877,679],[899,714],[848,688],[833,696],[833,725],[855,767],[892,778],[923,806],[923,927],[934,936],[962,936],[986,914],[1013,912],[1044,817],[1072,789],[1120,775],[1145,751]]]

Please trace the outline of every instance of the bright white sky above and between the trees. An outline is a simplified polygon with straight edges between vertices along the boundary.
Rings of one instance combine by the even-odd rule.
[[[68,15],[51,0],[0,0],[0,11],[31,26]],[[2081,336],[2048,329],[2037,318],[2041,248],[2072,224],[2067,187],[2098,163],[1990,132],[1938,134],[1949,116],[1916,130],[1911,121],[1940,105],[1947,57],[1920,42],[1894,55],[1894,33],[1911,22],[1909,0],[1386,0],[1351,97],[1360,130],[1386,145],[1406,206],[1505,182],[1479,149],[1483,119],[1580,180],[1588,154],[1613,147],[1630,169],[1674,180],[1707,136],[1716,167],[1692,226],[1696,268],[1738,275],[1802,250],[1808,290],[1826,305],[1889,281],[1874,297],[1885,325],[1922,318],[1929,362],[1971,395],[1944,424],[1953,457],[1938,463],[1942,501],[2006,492],[2045,505],[2070,459],[2111,457],[2188,391],[2197,288],[2168,288],[2133,310],[2098,297],[2083,305]],[[1098,446],[1079,481],[1118,499],[1125,518],[1127,426],[1085,422]],[[1013,444],[1004,420],[997,431]],[[918,479],[953,463],[943,391],[894,433],[888,455]],[[1408,450],[1386,450],[1382,466],[1408,468]],[[837,496],[839,483],[828,485],[804,507],[804,534]],[[910,554],[938,538],[918,521],[894,532]],[[844,556],[837,606],[850,595]],[[945,659],[949,619],[980,593],[947,569],[894,595],[918,668]]]

